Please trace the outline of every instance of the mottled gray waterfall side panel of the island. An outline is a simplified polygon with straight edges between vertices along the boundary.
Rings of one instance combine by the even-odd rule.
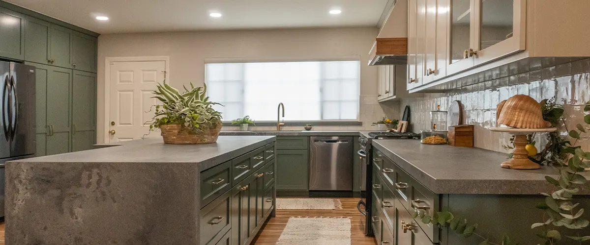
[[[6,165],[6,244],[198,244],[189,163]]]

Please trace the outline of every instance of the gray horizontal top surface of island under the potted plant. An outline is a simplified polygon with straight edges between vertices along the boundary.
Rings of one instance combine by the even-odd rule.
[[[163,142],[162,137],[157,137],[104,144],[99,145],[99,149],[15,160],[12,163],[198,163],[199,169],[207,169],[267,145],[273,142],[274,138],[274,136],[219,136],[217,143],[169,145]]]

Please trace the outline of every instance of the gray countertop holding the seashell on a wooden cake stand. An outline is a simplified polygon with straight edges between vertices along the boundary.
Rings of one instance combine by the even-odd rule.
[[[437,194],[539,194],[552,192],[545,176],[558,170],[504,169],[507,155],[475,147],[422,145],[419,140],[373,140],[372,145]],[[582,173],[590,178],[590,174]],[[578,194],[590,194],[590,183]]]

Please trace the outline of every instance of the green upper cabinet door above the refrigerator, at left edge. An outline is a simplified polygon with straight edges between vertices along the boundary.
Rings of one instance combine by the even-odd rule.
[[[0,8],[0,57],[22,60],[24,51],[24,15]]]

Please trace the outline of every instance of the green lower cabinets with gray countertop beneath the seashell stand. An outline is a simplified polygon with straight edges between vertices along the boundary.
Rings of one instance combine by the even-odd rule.
[[[413,219],[417,210],[430,216],[449,211],[470,224],[477,223],[476,232],[494,243],[501,244],[504,234],[521,244],[541,243],[535,234],[542,229],[530,226],[548,219],[535,206],[545,198],[539,192],[553,192],[545,176],[557,179],[557,169],[503,169],[504,153],[422,145],[419,140],[373,140],[372,146],[372,202],[368,205],[378,244],[470,245],[483,241],[477,236],[465,238],[448,227],[424,224],[419,217]],[[582,175],[590,178],[588,173]],[[581,186],[573,201],[588,210],[590,184]],[[565,230],[560,230],[562,236],[590,234],[588,227],[578,232]],[[563,239],[563,244],[573,244]]]

